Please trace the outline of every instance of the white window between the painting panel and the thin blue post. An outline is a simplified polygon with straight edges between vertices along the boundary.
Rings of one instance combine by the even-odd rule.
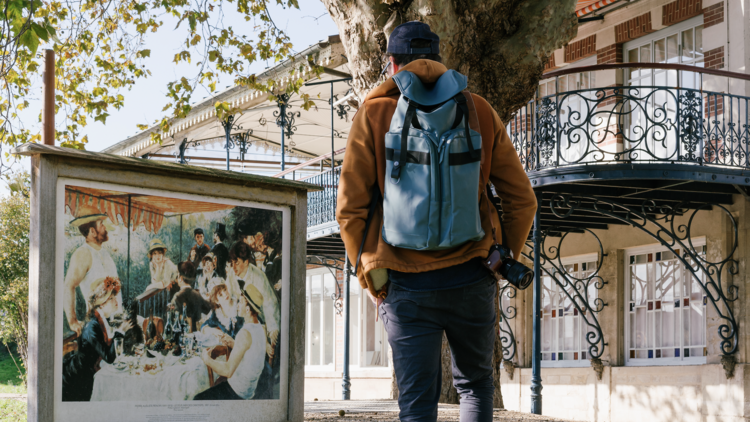
[[[335,356],[336,278],[326,268],[309,270],[305,282],[307,316],[305,325],[305,365],[330,366]]]

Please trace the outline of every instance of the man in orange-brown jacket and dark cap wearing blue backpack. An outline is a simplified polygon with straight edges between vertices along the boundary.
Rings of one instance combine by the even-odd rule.
[[[491,421],[497,281],[482,262],[501,233],[485,186],[492,182],[502,199],[506,246],[515,257],[529,234],[537,203],[503,122],[485,99],[465,91],[463,75],[441,64],[439,45],[439,37],[420,22],[400,25],[391,34],[389,78],[367,95],[349,133],[336,215],[352,264],[363,245],[360,284],[378,302],[383,300],[379,315],[393,351],[400,420],[437,419],[445,333],[453,384],[461,397],[461,421]],[[447,100],[440,99],[446,95]],[[449,114],[437,123],[430,120],[430,113],[438,112]],[[467,141],[463,134],[470,133],[468,127],[481,140],[472,134]],[[441,133],[454,136],[454,143],[441,146]],[[446,184],[462,177],[462,165],[474,166],[466,167],[474,173],[463,180],[470,188],[445,194]],[[442,185],[430,188],[436,177],[449,173],[452,178],[444,177]],[[409,186],[415,189],[413,195]],[[419,189],[426,193],[420,196]],[[363,243],[373,197],[378,202]],[[426,217],[414,217],[420,213]],[[468,240],[452,243],[458,234]],[[410,246],[394,246],[404,244]]]

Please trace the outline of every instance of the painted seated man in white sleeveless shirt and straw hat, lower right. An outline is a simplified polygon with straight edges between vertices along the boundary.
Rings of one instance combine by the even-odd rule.
[[[234,339],[234,347],[226,360],[211,357],[213,348],[201,358],[227,382],[216,384],[195,396],[195,400],[249,400],[255,396],[258,380],[265,367],[266,333],[258,316],[262,313],[263,296],[252,284],[245,285],[237,303],[238,316],[245,323]]]

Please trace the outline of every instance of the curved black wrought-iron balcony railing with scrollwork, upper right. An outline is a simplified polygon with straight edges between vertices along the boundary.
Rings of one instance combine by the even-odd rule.
[[[700,80],[698,86],[704,74],[750,80],[750,75],[733,72],[645,63],[552,75],[622,68],[673,71],[678,85],[685,72]],[[747,96],[678,86],[579,89],[533,99],[513,115],[507,131],[527,172],[641,162],[750,168],[749,106]]]

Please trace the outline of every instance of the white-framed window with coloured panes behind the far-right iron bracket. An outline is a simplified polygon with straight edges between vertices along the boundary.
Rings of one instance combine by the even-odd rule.
[[[693,245],[705,257],[705,239]],[[690,258],[686,268],[678,259],[682,252],[663,246],[627,251],[626,365],[706,362],[705,275]]]

